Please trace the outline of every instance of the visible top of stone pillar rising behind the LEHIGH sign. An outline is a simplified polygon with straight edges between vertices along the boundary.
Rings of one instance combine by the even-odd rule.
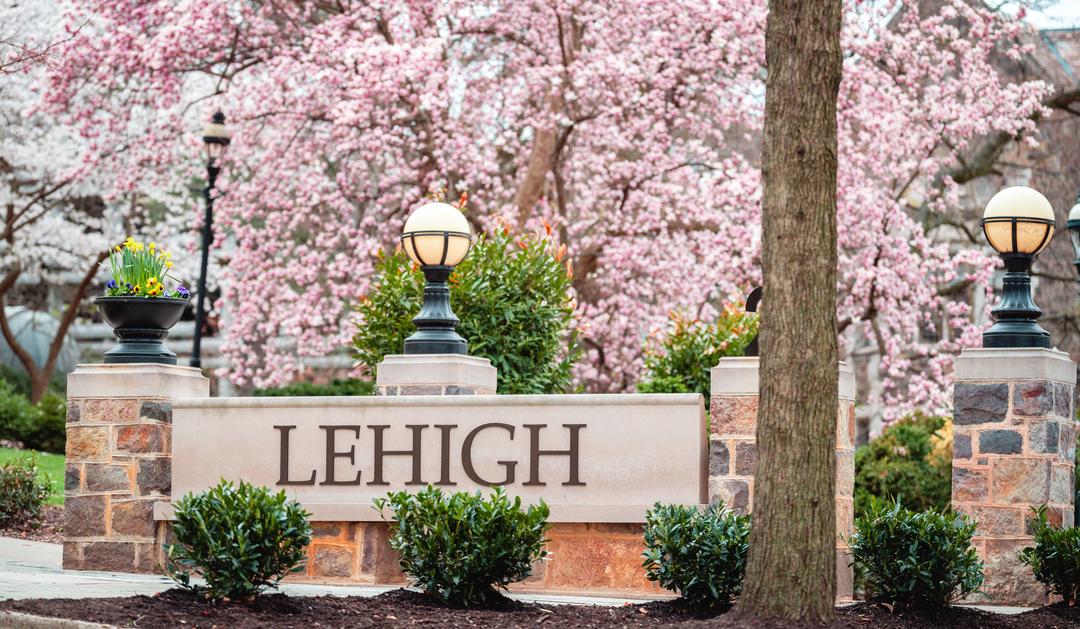
[[[376,370],[380,396],[494,396],[491,361],[459,353],[390,354]]]

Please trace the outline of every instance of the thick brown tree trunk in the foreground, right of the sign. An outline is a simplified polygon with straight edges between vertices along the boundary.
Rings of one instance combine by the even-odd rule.
[[[770,0],[760,405],[738,612],[836,616],[836,98],[840,0]]]

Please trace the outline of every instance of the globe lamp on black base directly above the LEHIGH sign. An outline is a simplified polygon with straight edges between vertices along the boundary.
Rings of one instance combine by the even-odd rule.
[[[458,318],[450,309],[447,281],[472,246],[469,222],[448,203],[427,203],[405,222],[402,246],[420,265],[426,284],[416,332],[405,339],[405,353],[469,353],[469,343],[454,331]]]

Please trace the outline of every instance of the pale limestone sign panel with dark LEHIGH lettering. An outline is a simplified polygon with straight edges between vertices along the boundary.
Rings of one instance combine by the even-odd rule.
[[[555,522],[639,522],[658,500],[705,501],[707,444],[697,394],[186,399],[173,496],[246,480],[315,520],[365,521],[391,491],[503,486]]]

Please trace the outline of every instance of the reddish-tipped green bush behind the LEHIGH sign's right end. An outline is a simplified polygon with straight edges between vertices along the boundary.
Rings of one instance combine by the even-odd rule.
[[[705,323],[673,312],[672,329],[645,347],[643,393],[701,393],[708,400],[711,370],[724,357],[743,356],[757,335],[757,314],[728,305]]]

